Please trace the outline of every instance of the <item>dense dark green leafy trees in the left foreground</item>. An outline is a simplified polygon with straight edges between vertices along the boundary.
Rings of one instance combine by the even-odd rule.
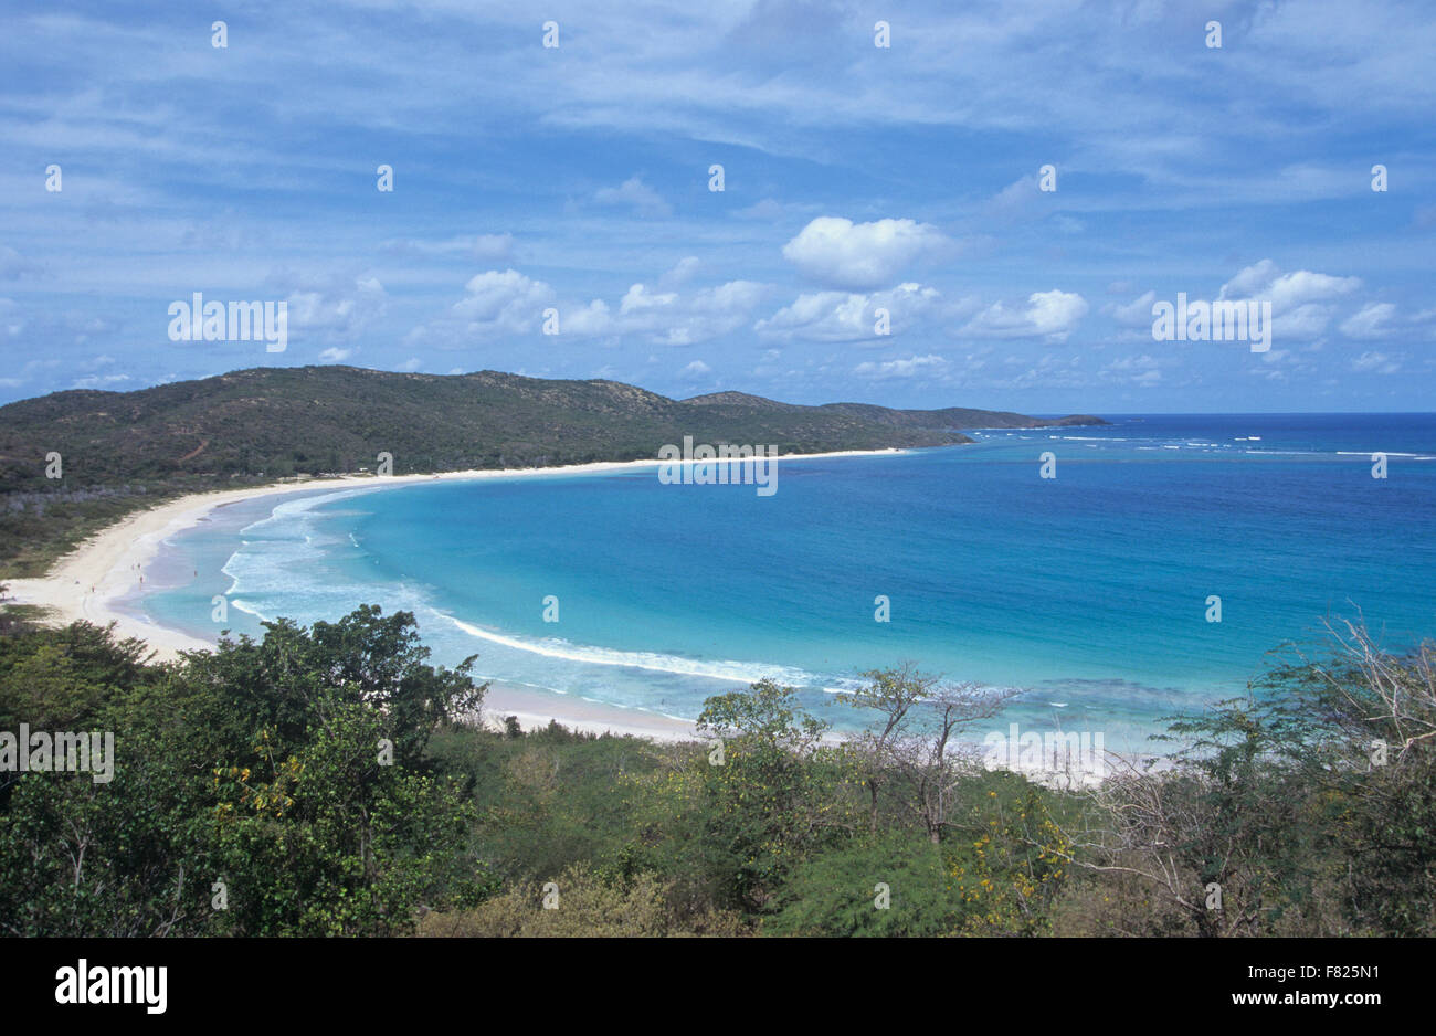
[[[316,630],[276,623],[258,644],[171,666],[83,623],[0,640],[11,730],[115,743],[109,782],[0,778],[0,928],[383,934],[424,904],[495,891],[467,851],[471,806],[421,758],[482,689],[424,664],[404,613]]]

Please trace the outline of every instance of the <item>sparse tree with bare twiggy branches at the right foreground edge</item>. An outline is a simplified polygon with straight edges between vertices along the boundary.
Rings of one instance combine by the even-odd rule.
[[[1074,862],[1140,880],[1205,936],[1436,931],[1436,646],[1328,630],[1323,657],[1176,717],[1166,769],[1124,763]]]

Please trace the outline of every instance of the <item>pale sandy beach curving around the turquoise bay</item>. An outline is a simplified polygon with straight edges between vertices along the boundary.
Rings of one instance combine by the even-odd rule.
[[[785,453],[780,461],[813,461],[841,456],[896,456],[903,449],[840,451],[829,453]],[[85,620],[95,626],[113,623],[119,637],[138,637],[152,650],[158,661],[172,661],[180,651],[213,650],[215,640],[201,640],[181,630],[141,618],[119,607],[119,601],[144,593],[145,568],[158,557],[165,540],[192,528],[218,508],[264,496],[284,496],[299,492],[386,489],[435,481],[480,481],[531,478],[544,475],[583,475],[610,471],[656,468],[661,461],[600,461],[554,468],[503,468],[452,471],[426,475],[342,475],[314,478],[294,484],[270,484],[244,489],[211,489],[157,504],[108,525],[73,551],[57,560],[43,577],[9,580],[14,604],[46,610],[49,626],[67,626]],[[691,723],[620,706],[606,706],[587,700],[572,700],[563,694],[526,690],[494,683],[484,702],[490,722],[517,716],[524,729],[547,726],[557,720],[564,726],[603,733],[652,738],[655,740],[688,740],[696,738]]]

